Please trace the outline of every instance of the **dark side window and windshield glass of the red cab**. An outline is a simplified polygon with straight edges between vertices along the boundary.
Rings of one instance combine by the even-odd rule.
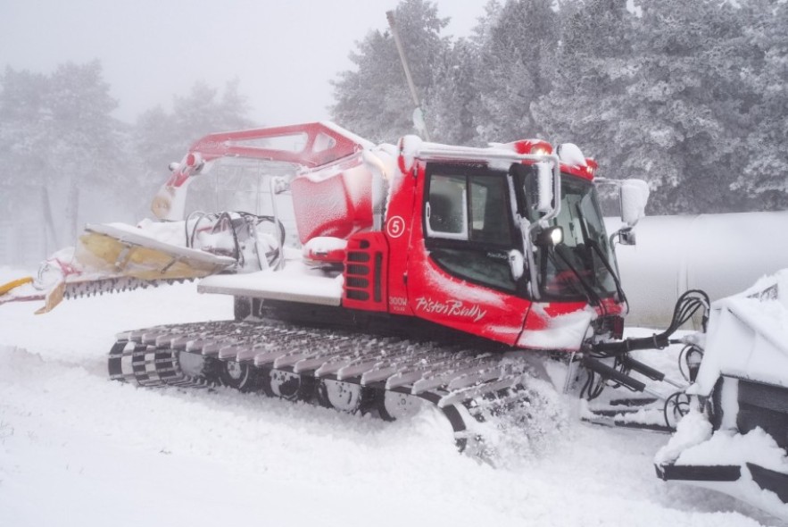
[[[535,164],[513,163],[505,171],[427,163],[425,175],[425,245],[444,272],[531,300],[599,305],[602,298],[620,296],[615,254],[590,179],[561,173],[559,212],[543,221]],[[520,219],[526,220],[523,229],[544,224],[523,233]],[[531,247],[524,247],[528,237]],[[516,272],[510,263],[522,262],[529,248],[535,275]],[[537,284],[529,287],[529,276]]]

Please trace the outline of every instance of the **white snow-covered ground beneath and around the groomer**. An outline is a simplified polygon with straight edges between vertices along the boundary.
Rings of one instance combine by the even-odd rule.
[[[782,525],[659,481],[667,435],[579,422],[570,399],[560,431],[494,468],[458,455],[429,412],[386,423],[108,381],[116,332],[232,316],[231,298],[194,284],[36,307],[0,307],[0,525]]]

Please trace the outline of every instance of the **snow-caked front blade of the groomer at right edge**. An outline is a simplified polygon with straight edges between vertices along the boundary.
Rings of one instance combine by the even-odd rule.
[[[702,360],[693,373],[693,412],[655,458],[663,480],[716,489],[783,520],[788,519],[786,286],[783,270],[711,305]],[[689,362],[688,355],[692,372]]]

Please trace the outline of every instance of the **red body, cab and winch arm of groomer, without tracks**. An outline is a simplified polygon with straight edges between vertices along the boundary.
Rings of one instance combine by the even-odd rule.
[[[286,138],[300,150],[263,146]],[[304,272],[262,272],[251,289],[251,276],[216,275],[204,292],[418,318],[519,348],[577,351],[592,322],[620,336],[625,300],[596,163],[576,146],[372,146],[329,123],[216,134],[191,148],[154,212],[182,219],[181,193],[228,158],[297,166],[274,184],[289,185],[303,250],[291,263],[273,247],[279,256],[261,266]]]

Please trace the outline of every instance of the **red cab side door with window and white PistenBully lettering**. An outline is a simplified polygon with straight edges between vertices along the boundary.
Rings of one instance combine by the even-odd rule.
[[[513,345],[530,303],[510,258],[522,254],[507,171],[427,163],[414,222],[408,298],[420,318]],[[518,261],[522,266],[521,257]]]

